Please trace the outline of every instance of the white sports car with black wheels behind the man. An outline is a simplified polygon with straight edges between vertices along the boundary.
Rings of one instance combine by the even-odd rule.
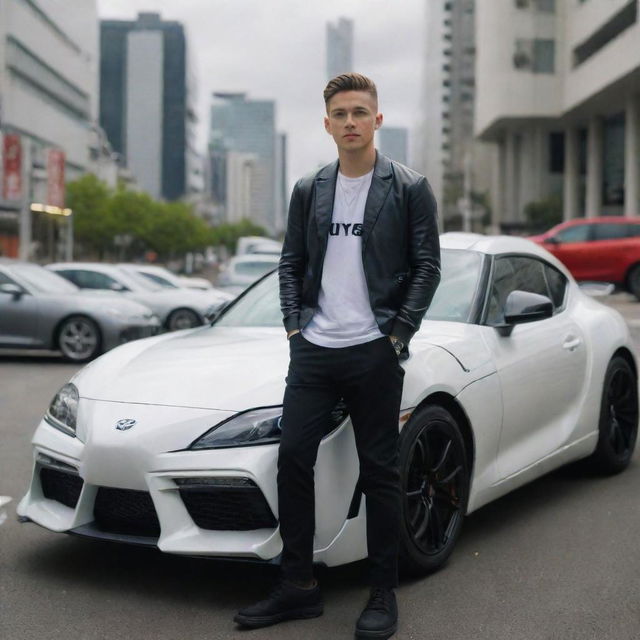
[[[402,562],[447,559],[463,516],[579,458],[631,459],[627,327],[533,243],[442,236],[442,282],[411,342],[402,410]],[[162,551],[277,562],[276,460],[288,364],[275,273],[211,327],[119,347],[53,399],[23,521]],[[366,505],[338,404],[316,465],[314,559],[364,558]]]

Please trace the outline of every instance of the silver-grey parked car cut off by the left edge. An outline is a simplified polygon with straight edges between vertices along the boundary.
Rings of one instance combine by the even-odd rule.
[[[85,362],[159,328],[142,304],[82,292],[36,264],[0,258],[0,347],[59,350]]]

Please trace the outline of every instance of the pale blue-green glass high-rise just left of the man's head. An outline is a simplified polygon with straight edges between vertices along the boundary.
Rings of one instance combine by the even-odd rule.
[[[213,98],[209,156],[218,168],[216,174],[212,166],[211,175],[217,200],[227,220],[249,217],[273,233],[277,227],[275,102],[250,100],[245,93],[214,93]],[[219,175],[222,167],[224,181]]]

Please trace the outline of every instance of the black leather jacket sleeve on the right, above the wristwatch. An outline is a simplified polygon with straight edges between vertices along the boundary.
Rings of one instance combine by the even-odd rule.
[[[440,283],[437,206],[424,177],[409,188],[409,265],[409,284],[391,331],[403,342],[420,328]]]

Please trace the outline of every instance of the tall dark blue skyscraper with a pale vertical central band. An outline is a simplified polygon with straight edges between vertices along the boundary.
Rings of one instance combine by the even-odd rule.
[[[138,185],[175,200],[202,189],[195,87],[182,25],[140,13],[100,24],[100,124]]]

